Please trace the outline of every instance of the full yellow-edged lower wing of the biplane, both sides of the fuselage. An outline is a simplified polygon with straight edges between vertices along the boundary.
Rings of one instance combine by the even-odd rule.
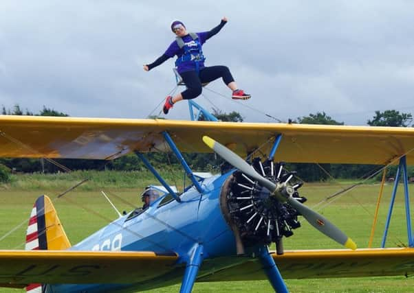
[[[291,250],[273,253],[285,279],[404,276],[414,274],[414,248],[358,250]],[[0,285],[28,283],[152,283],[172,277],[179,282],[184,270],[177,255],[152,252],[83,252],[69,250],[0,250]],[[179,274],[175,273],[179,272]],[[170,277],[167,277],[170,276]],[[258,259],[206,259],[197,281],[266,279]],[[170,280],[171,281],[171,280]]]

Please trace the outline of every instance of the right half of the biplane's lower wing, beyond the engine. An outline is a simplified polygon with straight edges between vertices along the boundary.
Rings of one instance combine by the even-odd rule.
[[[404,276],[414,274],[414,248],[358,250],[287,250],[273,253],[285,279]],[[197,281],[265,279],[261,263],[252,259],[238,266],[208,274]]]

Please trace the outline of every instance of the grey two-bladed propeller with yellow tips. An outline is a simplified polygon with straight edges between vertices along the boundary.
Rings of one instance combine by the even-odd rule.
[[[309,224],[318,229],[318,231],[327,235],[327,237],[334,239],[336,242],[342,244],[347,248],[353,250],[356,249],[355,242],[353,242],[351,238],[345,235],[345,233],[340,231],[340,229],[337,228],[334,224],[329,222],[327,218],[325,218],[323,215],[320,215],[319,213],[316,213],[316,211],[309,209],[301,202],[298,202],[298,200],[292,196],[294,193],[293,187],[287,186],[285,183],[272,183],[272,181],[264,178],[259,173],[257,173],[256,170],[246,161],[241,159],[240,156],[226,148],[224,145],[221,145],[221,143],[218,143],[214,139],[204,136],[203,141],[206,143],[206,145],[208,145],[209,148],[214,150],[217,154],[219,154],[219,156],[230,163],[230,165],[233,165],[244,174],[257,180],[260,185],[269,189],[269,191],[272,193],[272,196],[274,196],[277,200],[289,203],[294,209],[303,215],[303,218],[305,218]]]

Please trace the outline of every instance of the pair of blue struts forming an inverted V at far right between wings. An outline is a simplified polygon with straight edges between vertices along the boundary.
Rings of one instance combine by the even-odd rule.
[[[389,204],[389,211],[386,217],[386,223],[384,228],[384,235],[382,236],[381,247],[385,247],[386,235],[388,233],[389,224],[391,221],[391,214],[393,212],[394,202],[395,202],[395,195],[397,194],[397,187],[398,183],[400,182],[400,176],[402,172],[402,181],[404,183],[404,199],[405,199],[405,211],[406,211],[406,223],[407,223],[407,235],[408,235],[408,246],[414,247],[413,242],[413,231],[411,229],[411,213],[410,213],[410,198],[408,195],[408,174],[407,174],[407,164],[406,164],[406,156],[402,156],[400,159],[400,164],[397,168],[397,174],[395,175],[394,180],[394,187],[393,193],[391,195],[391,202]]]

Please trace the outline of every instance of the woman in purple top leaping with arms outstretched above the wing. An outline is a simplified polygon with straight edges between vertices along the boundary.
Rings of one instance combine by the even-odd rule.
[[[171,30],[177,36],[170,47],[160,58],[149,65],[144,65],[144,70],[149,71],[161,65],[168,58],[177,56],[175,66],[187,89],[172,97],[168,95],[165,99],[164,114],[173,108],[173,105],[182,99],[194,99],[201,94],[201,84],[212,82],[217,78],[223,78],[224,83],[232,90],[233,99],[249,99],[250,95],[243,90],[237,89],[237,84],[226,66],[204,67],[204,56],[201,46],[206,40],[217,34],[227,23],[226,17],[221,19],[221,23],[209,32],[188,33],[184,23],[174,21],[171,23]]]

